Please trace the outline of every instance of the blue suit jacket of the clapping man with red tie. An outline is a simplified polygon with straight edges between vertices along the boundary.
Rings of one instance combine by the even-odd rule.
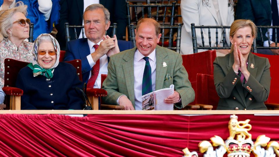
[[[133,48],[133,43],[130,41],[117,40],[120,52]],[[81,38],[76,40],[70,40],[66,44],[66,53],[64,61],[70,61],[74,59],[81,60],[82,81],[87,83],[91,71],[91,67],[88,63],[87,57],[90,55],[90,49],[87,42],[87,38]]]

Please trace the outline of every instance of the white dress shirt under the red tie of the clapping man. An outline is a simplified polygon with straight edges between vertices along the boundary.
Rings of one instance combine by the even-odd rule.
[[[103,40],[98,42],[97,45],[100,45],[100,43],[102,41]],[[92,68],[96,64],[94,62],[92,56],[91,56],[91,53],[95,52],[95,48],[93,47],[95,45],[95,43],[90,41],[89,39],[87,39],[87,42],[88,42],[88,45],[89,45],[89,48],[90,48],[90,55],[87,56],[87,60],[88,60],[88,63],[90,65],[90,67]],[[93,88],[101,88],[101,74],[108,74],[108,56],[107,55],[103,55],[100,58],[100,70],[99,70],[99,74],[98,74],[98,77],[95,81],[95,84],[94,84]],[[90,77],[91,77],[91,71],[90,71],[88,79],[90,79]]]

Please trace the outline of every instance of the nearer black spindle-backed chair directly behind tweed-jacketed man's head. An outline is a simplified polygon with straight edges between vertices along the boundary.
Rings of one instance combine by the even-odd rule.
[[[161,25],[161,33],[162,33],[162,37],[160,39],[160,42],[158,43],[159,46],[162,47],[166,47],[168,49],[174,50],[177,53],[180,53],[180,39],[181,39],[181,27],[182,24],[178,24],[178,25]],[[136,46],[136,40],[135,40],[135,26],[133,24],[130,24],[130,29],[131,29],[131,41],[133,42],[133,45]],[[165,34],[165,30],[170,29],[177,29],[177,36],[176,36],[176,42],[171,42],[174,39],[174,34],[172,33],[172,31],[169,31],[168,34]],[[168,41],[166,42],[166,39],[168,39]],[[173,46],[173,44],[176,45],[176,47]]]

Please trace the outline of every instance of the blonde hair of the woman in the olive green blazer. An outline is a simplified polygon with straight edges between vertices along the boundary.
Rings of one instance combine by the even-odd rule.
[[[252,22],[251,20],[248,20],[248,19],[238,19],[238,20],[235,20],[234,22],[232,22],[232,25],[230,26],[230,37],[233,37],[235,35],[236,31],[239,28],[243,28],[243,27],[250,27],[252,29],[252,36],[254,38],[257,38],[258,29],[257,29],[256,25],[254,24],[254,22]],[[253,47],[251,47],[251,49],[253,50]],[[230,52],[233,52],[233,43],[232,43]]]

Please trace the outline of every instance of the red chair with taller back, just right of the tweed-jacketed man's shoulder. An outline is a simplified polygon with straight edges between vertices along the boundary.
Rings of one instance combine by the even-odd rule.
[[[213,75],[213,62],[216,58],[216,51],[215,50],[208,50],[200,53],[182,55],[182,62],[183,66],[185,67],[189,81],[191,82],[192,88],[194,89],[195,93],[197,92],[197,74],[208,74]],[[214,88],[215,89],[215,88]],[[192,105],[197,104],[197,97],[195,100],[190,103]],[[208,106],[200,106],[208,107]]]

